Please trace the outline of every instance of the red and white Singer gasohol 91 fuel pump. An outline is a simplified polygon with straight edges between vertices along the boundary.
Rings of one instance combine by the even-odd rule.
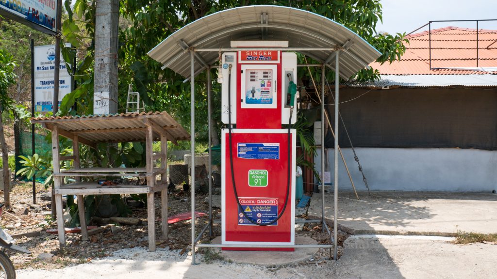
[[[284,48],[288,42],[232,41],[231,46]],[[224,53],[221,65],[222,121],[228,126],[221,139],[222,244],[293,245],[297,56],[241,50]]]

